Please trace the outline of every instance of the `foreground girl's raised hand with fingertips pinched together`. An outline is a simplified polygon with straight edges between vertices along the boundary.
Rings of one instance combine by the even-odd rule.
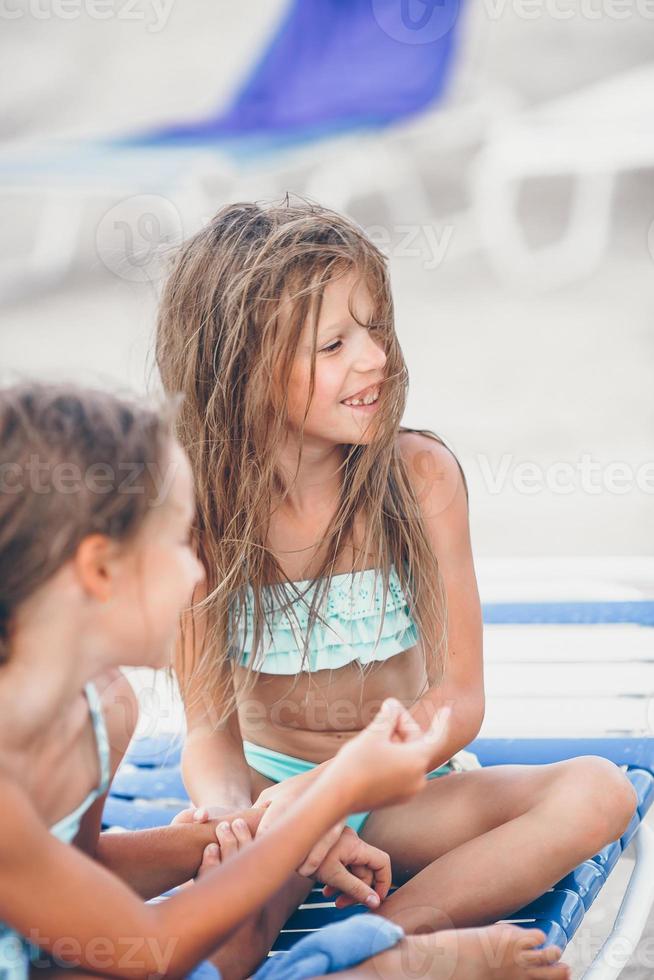
[[[452,710],[441,708],[423,732],[399,701],[388,698],[376,718],[344,745],[327,770],[351,794],[351,812],[410,800],[426,785],[431,759],[445,744]]]

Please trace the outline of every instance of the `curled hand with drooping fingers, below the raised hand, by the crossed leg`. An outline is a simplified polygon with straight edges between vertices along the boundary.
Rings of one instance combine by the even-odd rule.
[[[325,885],[325,898],[338,894],[336,908],[360,902],[376,909],[391,887],[391,859],[346,827],[320,867],[308,877]]]

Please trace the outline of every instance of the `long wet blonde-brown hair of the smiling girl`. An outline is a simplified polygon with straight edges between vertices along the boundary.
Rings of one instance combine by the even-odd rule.
[[[155,349],[165,390],[184,395],[177,435],[195,476],[196,540],[207,572],[207,597],[195,607],[202,608],[204,641],[197,649],[194,636],[190,654],[189,644],[181,644],[189,662],[178,665],[178,673],[187,694],[192,689],[218,701],[223,720],[234,707],[225,693],[226,667],[243,653],[234,649],[234,627],[245,621],[248,587],[249,677],[256,672],[267,628],[270,607],[264,594],[270,596],[272,589],[274,604],[289,610],[298,597],[268,546],[273,501],[283,500],[290,489],[278,466],[287,434],[288,381],[309,323],[311,400],[324,290],[352,271],[372,298],[374,322],[366,326],[374,327],[383,345],[386,373],[370,442],[343,447],[340,500],[312,580],[305,656],[337,560],[353,546],[356,519],[363,526],[356,566],[378,570],[384,599],[395,566],[429,676],[444,668],[443,584],[397,445],[407,371],[395,335],[385,257],[353,221],[326,208],[288,199],[232,204],[176,255]]]

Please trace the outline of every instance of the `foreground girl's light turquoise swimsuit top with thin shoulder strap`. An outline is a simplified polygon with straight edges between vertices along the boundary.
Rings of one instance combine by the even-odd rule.
[[[111,775],[109,765],[109,738],[107,728],[102,715],[102,705],[100,695],[93,684],[87,684],[84,688],[86,700],[89,705],[89,713],[93,722],[95,741],[98,749],[98,759],[100,762],[100,783],[92,789],[85,800],[72,813],[62,817],[56,824],[50,827],[50,833],[70,844],[77,836],[82,822],[82,817],[92,806],[93,803],[106,792],[109,786]],[[39,949],[32,946],[20,933],[10,926],[0,922],[0,978],[1,980],[28,980],[30,972],[30,960],[36,960],[39,956]]]

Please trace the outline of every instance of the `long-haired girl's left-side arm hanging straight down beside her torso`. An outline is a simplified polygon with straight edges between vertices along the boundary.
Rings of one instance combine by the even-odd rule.
[[[193,594],[198,603],[206,596],[204,584]],[[252,805],[250,771],[243,752],[238,715],[233,711],[228,721],[219,724],[220,705],[192,680],[197,651],[202,650],[206,632],[206,613],[195,609],[183,615],[184,634],[180,632],[175,657],[175,671],[184,691],[187,735],[182,750],[182,775],[188,794],[197,807],[212,807],[225,813]],[[227,696],[233,695],[231,677],[223,678]]]

